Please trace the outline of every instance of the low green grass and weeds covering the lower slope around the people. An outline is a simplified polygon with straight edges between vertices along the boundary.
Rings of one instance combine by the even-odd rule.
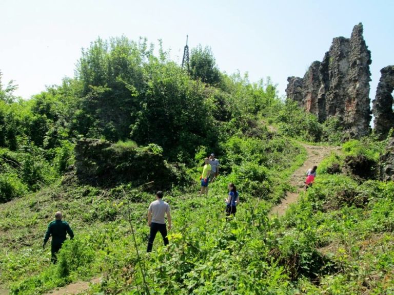
[[[170,246],[163,247],[157,236],[149,255],[146,209],[154,197],[129,185],[99,189],[65,178],[63,184],[1,205],[1,283],[10,285],[12,294],[41,294],[94,277],[102,283],[87,291],[90,294],[139,294],[143,289],[151,294],[393,292],[394,184],[329,175],[332,163],[345,165],[343,156],[332,154],[300,201],[284,217],[268,218],[306,156],[297,141],[276,140],[261,140],[260,147],[255,141],[228,142],[224,164],[238,161],[231,151],[240,147],[240,167],[250,170],[264,160],[265,170],[254,171],[253,177],[264,173],[266,181],[273,176],[278,180],[257,198],[252,189],[265,186],[243,178],[236,218],[226,220],[224,215],[226,184],[245,177],[244,170],[223,167],[224,175],[210,186],[208,197],[198,197],[198,181],[187,191],[175,187],[167,192],[173,215]],[[255,155],[255,149],[270,149],[270,154]],[[200,169],[190,173],[197,177]],[[49,249],[43,251],[41,244],[58,209],[76,238],[64,245],[59,263],[52,266]]]

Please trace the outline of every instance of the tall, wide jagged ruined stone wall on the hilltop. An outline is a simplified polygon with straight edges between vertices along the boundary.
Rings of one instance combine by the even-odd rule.
[[[354,26],[351,37],[332,41],[323,61],[314,61],[303,78],[289,77],[287,97],[324,122],[338,117],[352,137],[369,133],[369,81],[371,53],[363,37],[363,25]]]

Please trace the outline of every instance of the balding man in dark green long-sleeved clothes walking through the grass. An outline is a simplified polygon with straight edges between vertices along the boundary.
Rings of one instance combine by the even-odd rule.
[[[62,220],[62,212],[58,211],[55,213],[55,220],[49,223],[47,232],[44,237],[43,249],[45,249],[45,244],[48,242],[49,237],[52,236],[51,241],[51,262],[57,262],[57,252],[62,248],[63,243],[67,240],[67,234],[72,240],[74,238],[74,233],[70,225]]]

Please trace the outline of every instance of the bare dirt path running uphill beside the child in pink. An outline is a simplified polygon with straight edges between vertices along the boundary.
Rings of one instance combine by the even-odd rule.
[[[286,198],[282,203],[274,206],[271,209],[270,215],[282,216],[290,204],[297,202],[300,192],[304,189],[304,181],[306,171],[314,165],[319,166],[319,163],[331,154],[331,151],[339,151],[340,147],[335,146],[322,146],[322,145],[308,145],[301,143],[307,152],[307,158],[304,164],[298,168],[290,178],[290,184],[297,187],[297,191],[292,193],[288,192]],[[319,177],[319,175],[318,175]]]

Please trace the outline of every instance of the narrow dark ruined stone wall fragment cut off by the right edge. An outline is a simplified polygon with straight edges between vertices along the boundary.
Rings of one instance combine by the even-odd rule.
[[[394,128],[393,96],[394,91],[394,66],[388,66],[380,70],[381,77],[376,90],[373,103],[373,125],[381,139],[387,137],[391,128]]]

